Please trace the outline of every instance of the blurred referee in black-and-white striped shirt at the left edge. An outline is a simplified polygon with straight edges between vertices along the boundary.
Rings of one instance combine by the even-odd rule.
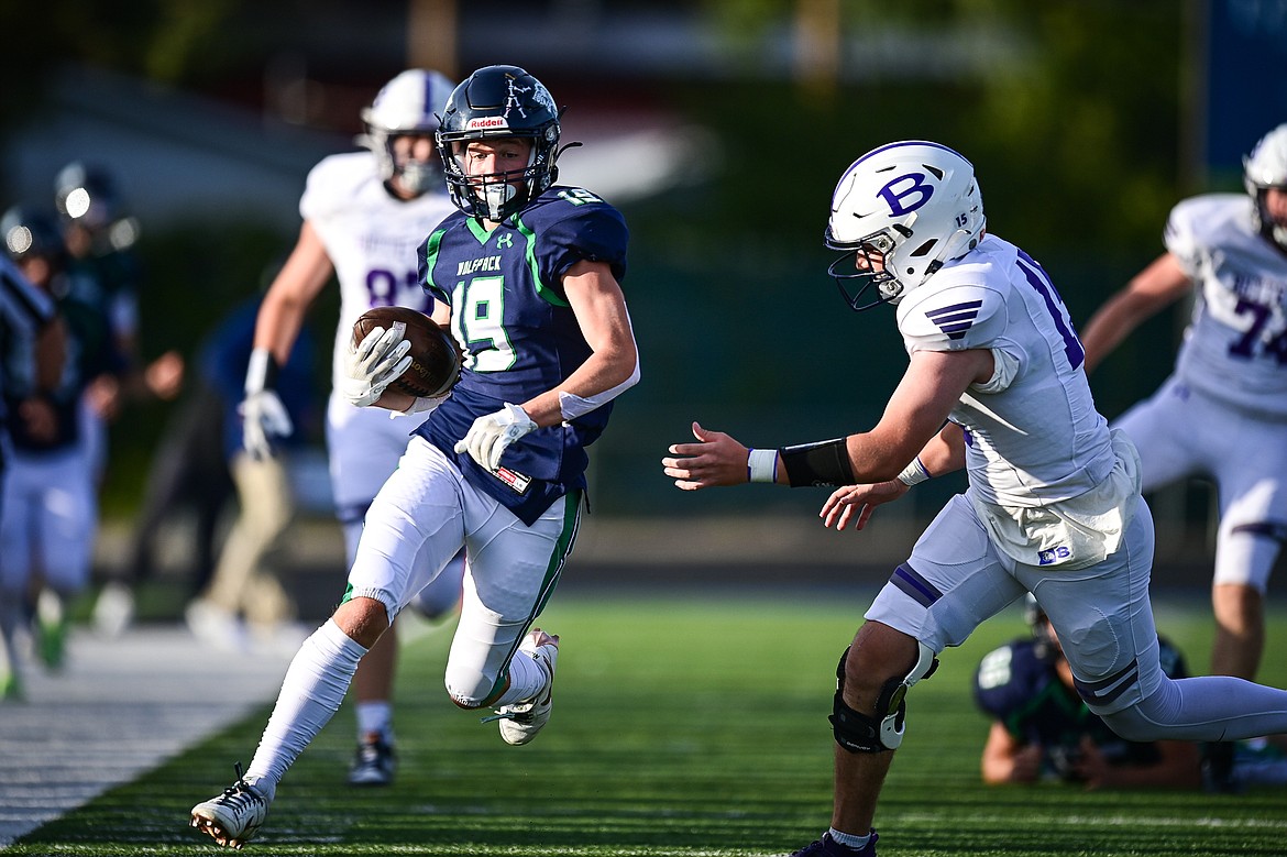
[[[66,326],[58,318],[54,301],[27,282],[8,252],[0,253],[0,519],[4,516],[3,489],[8,483],[8,462],[13,458],[6,404],[10,399],[45,395],[57,387],[63,374],[66,349]],[[39,431],[35,426],[30,430]],[[44,431],[53,432],[51,422],[46,422]],[[0,615],[8,606],[9,600],[0,594]],[[3,631],[0,624],[0,700],[21,699],[21,679],[13,667],[17,656],[14,641]]]

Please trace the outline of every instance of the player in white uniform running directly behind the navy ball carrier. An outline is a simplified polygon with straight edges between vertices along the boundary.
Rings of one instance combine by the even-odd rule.
[[[447,196],[434,147],[438,113],[453,84],[438,72],[408,69],[389,81],[362,113],[371,152],[323,158],[309,172],[300,214],[299,242],[269,287],[255,328],[255,354],[242,405],[246,450],[273,453],[273,436],[293,427],[273,390],[304,314],[335,273],[340,281],[340,319],[335,332],[333,385],[345,377],[344,355],[353,324],[373,306],[432,311],[417,282],[416,250],[447,215]],[[372,157],[375,154],[375,157]],[[353,565],[363,517],[385,479],[398,467],[418,421],[391,419],[373,408],[355,408],[332,392],[327,405],[327,452],[336,515],[344,528],[346,562]],[[429,618],[449,615],[459,602],[465,558],[421,593]],[[396,638],[385,634],[363,659],[355,678],[358,751],[349,772],[354,785],[384,785],[395,766],[391,691]]]

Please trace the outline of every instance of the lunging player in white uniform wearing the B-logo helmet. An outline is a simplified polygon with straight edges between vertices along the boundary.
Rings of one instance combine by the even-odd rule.
[[[870,431],[748,449],[699,423],[671,447],[681,489],[746,481],[835,486],[826,526],[965,467],[969,488],[894,569],[840,658],[831,829],[797,856],[875,854],[875,816],[907,690],[985,619],[1032,592],[1091,712],[1125,739],[1215,740],[1287,728],[1287,691],[1241,678],[1174,681],[1148,600],[1153,522],[1138,457],[1095,410],[1081,344],[1046,273],[985,234],[973,166],[937,143],[858,158],[835,189],[831,272],[853,309],[897,304],[910,355]],[[861,287],[851,293],[847,283]],[[874,287],[874,300],[860,305]]]

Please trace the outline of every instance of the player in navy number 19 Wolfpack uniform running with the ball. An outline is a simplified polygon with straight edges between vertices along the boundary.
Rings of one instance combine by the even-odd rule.
[[[465,351],[445,396],[389,385],[409,365],[400,329],[350,347],[340,391],[358,407],[427,414],[367,513],[344,601],[295,656],[255,758],[192,825],[239,847],[326,724],[359,659],[463,546],[468,556],[447,691],[494,710],[508,744],[548,722],[559,637],[533,624],[559,582],[586,492],[586,447],[638,380],[625,299],[627,229],[588,190],[556,185],[559,113],[515,66],[489,66],[443,111],[449,216],[420,250],[434,318]],[[429,571],[413,562],[423,549]]]

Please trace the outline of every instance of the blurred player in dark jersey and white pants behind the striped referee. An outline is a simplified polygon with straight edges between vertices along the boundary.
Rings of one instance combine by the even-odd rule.
[[[58,669],[67,604],[89,583],[98,503],[80,401],[108,358],[102,317],[72,286],[53,212],[9,208],[0,217],[0,233],[9,259],[57,304],[67,331],[55,386],[5,390],[13,456],[0,507],[0,634],[9,654],[8,674],[17,681],[15,641],[27,625],[30,600],[36,600],[36,651],[49,669]]]

